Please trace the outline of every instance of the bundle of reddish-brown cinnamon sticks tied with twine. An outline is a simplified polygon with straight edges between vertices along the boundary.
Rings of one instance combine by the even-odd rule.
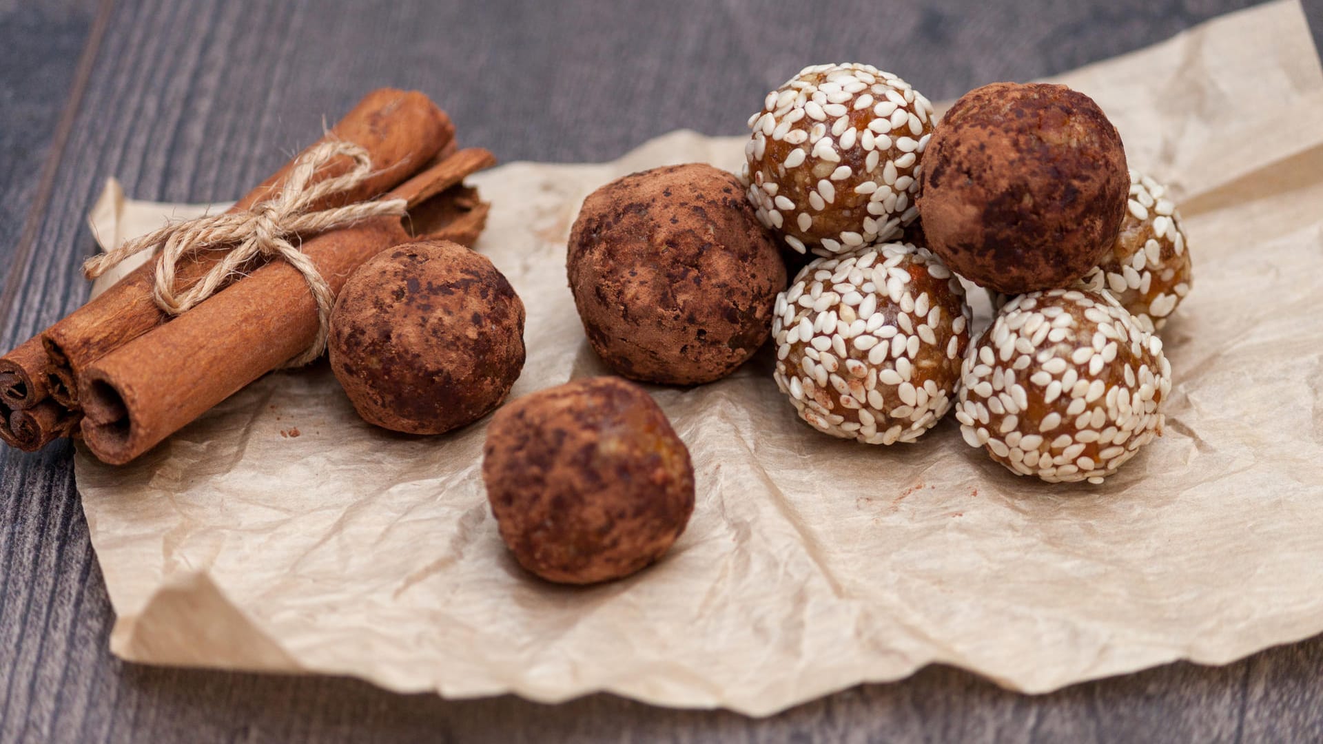
[[[486,150],[459,150],[450,118],[426,95],[369,93],[321,142],[327,139],[365,148],[373,171],[353,189],[328,196],[320,209],[378,196],[402,199],[409,208],[404,218],[372,217],[299,236],[303,253],[333,293],[359,265],[392,245],[446,238],[471,246],[483,230],[488,205],[463,180],[495,159]],[[277,193],[296,160],[232,210]],[[318,179],[348,168],[348,159],[332,162]],[[184,290],[200,281],[220,261],[218,253],[180,265],[176,286]],[[316,338],[316,301],[290,263],[251,266],[173,316],[153,301],[155,271],[156,262],[147,262],[0,357],[0,440],[32,451],[81,436],[97,458],[122,465],[288,363]]]

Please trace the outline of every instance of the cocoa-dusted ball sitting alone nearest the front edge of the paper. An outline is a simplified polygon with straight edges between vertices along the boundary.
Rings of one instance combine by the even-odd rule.
[[[647,567],[693,512],[689,450],[652,397],[619,377],[576,380],[499,410],[483,481],[515,559],[562,584]]]

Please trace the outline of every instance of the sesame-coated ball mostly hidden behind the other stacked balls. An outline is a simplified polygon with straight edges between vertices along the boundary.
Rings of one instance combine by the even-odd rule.
[[[1180,212],[1167,199],[1167,187],[1130,171],[1130,201],[1121,234],[1081,286],[1111,293],[1146,331],[1167,324],[1191,286],[1185,232]]]

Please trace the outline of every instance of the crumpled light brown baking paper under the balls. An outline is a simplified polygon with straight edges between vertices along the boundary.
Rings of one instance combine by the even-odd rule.
[[[1323,631],[1323,71],[1302,11],[1236,13],[1060,79],[1174,187],[1195,259],[1164,331],[1166,436],[1105,485],[1019,479],[950,417],[910,446],[831,440],[763,349],[728,380],[651,388],[693,454],[689,528],[640,575],[562,588],[497,536],[486,422],[373,429],[321,364],[263,377],[127,467],[79,451],[111,649],[762,715],[933,662],[1037,692]],[[742,144],[673,132],[614,163],[472,179],[493,201],[478,248],[528,307],[515,396],[606,373],[565,281],[583,196],[664,163],[736,168]],[[187,216],[112,195],[94,222],[118,240],[163,212]]]

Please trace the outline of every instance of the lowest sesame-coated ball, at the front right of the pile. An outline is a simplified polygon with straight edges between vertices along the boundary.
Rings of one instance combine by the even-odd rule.
[[[1162,340],[1110,295],[1029,293],[964,357],[955,417],[1017,475],[1101,483],[1162,434],[1170,389]]]

